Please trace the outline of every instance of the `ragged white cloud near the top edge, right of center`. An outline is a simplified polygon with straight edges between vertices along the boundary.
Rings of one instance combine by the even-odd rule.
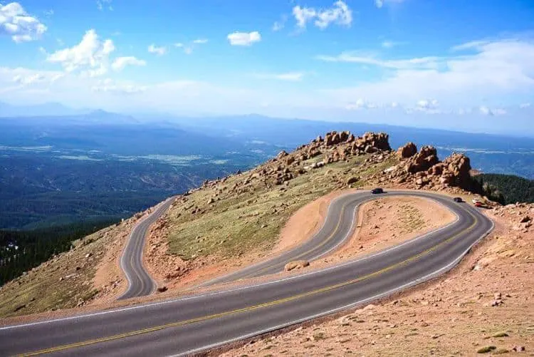
[[[304,29],[309,21],[315,19],[313,24],[319,29],[326,29],[330,24],[350,26],[352,24],[352,10],[344,1],[335,1],[328,9],[315,9],[313,7],[293,7],[293,16],[297,26]]]

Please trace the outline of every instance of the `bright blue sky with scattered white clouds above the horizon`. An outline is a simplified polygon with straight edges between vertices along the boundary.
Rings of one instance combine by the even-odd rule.
[[[534,136],[534,1],[0,0],[0,101]]]

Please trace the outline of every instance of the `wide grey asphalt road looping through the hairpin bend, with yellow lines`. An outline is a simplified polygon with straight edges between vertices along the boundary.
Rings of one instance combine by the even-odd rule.
[[[458,219],[422,237],[335,267],[317,271],[311,267],[303,274],[227,287],[209,294],[0,328],[0,355],[182,356],[197,353],[367,304],[443,274],[493,229],[493,223],[468,203],[456,204],[439,195],[414,192],[409,195],[431,197],[451,209]],[[341,244],[352,229],[356,207],[370,198],[369,194],[360,192],[335,200],[321,229],[323,233],[312,239],[322,245],[307,243],[305,245],[313,252],[308,252],[310,249],[298,252],[305,253],[303,258],[313,260]],[[271,259],[240,271],[233,278],[265,274],[271,271],[269,264],[273,264],[273,271],[278,271],[282,263],[278,258]]]

